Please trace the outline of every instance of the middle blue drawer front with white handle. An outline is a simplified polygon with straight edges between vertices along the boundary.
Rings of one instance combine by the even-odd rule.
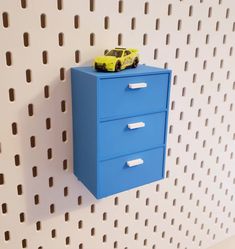
[[[164,144],[166,112],[100,123],[100,159],[131,154]]]

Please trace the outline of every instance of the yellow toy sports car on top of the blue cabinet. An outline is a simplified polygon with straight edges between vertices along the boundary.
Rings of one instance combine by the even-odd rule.
[[[104,56],[95,58],[94,68],[97,71],[119,72],[127,67],[137,67],[139,54],[137,49],[115,48]]]

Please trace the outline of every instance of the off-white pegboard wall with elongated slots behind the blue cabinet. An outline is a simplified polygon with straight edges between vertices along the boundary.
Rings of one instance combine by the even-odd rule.
[[[194,249],[235,234],[234,0],[1,0],[0,248]],[[173,70],[166,179],[97,201],[72,165],[70,67]]]

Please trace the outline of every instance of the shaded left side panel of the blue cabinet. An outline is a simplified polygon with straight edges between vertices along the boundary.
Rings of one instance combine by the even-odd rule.
[[[71,70],[74,174],[96,195],[97,91],[96,78]]]

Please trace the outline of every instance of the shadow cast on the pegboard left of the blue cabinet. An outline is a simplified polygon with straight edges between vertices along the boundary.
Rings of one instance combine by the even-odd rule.
[[[18,163],[24,169],[29,223],[96,202],[73,175],[70,70],[62,79],[55,78],[42,87],[20,111],[22,152]]]

